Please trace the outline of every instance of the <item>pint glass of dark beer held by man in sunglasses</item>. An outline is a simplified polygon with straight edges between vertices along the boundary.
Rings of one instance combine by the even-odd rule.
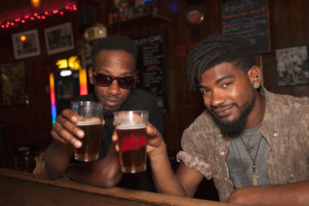
[[[72,111],[78,114],[78,126],[85,132],[85,136],[79,139],[81,148],[75,148],[75,160],[94,161],[99,157],[102,119],[104,117],[104,104],[90,101],[72,101]]]

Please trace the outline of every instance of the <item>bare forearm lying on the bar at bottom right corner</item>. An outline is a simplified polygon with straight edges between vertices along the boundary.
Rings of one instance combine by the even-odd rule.
[[[228,202],[243,205],[306,205],[309,202],[309,181],[285,185],[237,188]]]

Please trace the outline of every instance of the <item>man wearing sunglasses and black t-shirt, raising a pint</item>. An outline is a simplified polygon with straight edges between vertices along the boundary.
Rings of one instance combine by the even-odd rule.
[[[149,122],[163,133],[162,115],[155,97],[141,89],[133,89],[136,81],[136,61],[138,48],[125,36],[101,38],[93,46],[89,80],[94,85],[94,93],[78,97],[77,101],[99,101],[105,104],[99,160],[81,164],[71,164],[74,147],[81,147],[84,133],[74,125],[75,114],[65,109],[57,117],[51,135],[54,140],[44,153],[46,172],[51,178],[60,176],[96,187],[125,187],[143,191],[155,191],[150,165],[138,174],[121,172],[118,153],[111,137],[113,113],[120,110],[148,110]],[[76,162],[75,162],[76,163]]]

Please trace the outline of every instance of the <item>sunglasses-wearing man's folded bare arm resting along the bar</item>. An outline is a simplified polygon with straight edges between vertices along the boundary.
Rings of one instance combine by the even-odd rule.
[[[115,145],[112,143],[103,160],[70,165],[65,176],[95,187],[105,189],[115,187],[121,180],[123,173],[118,152],[114,148]]]

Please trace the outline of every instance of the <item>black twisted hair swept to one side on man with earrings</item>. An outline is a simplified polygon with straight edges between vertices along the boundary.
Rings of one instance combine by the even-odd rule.
[[[250,42],[231,33],[214,34],[199,44],[188,54],[187,80],[194,89],[201,79],[201,73],[223,62],[231,63],[245,74],[254,65]]]

